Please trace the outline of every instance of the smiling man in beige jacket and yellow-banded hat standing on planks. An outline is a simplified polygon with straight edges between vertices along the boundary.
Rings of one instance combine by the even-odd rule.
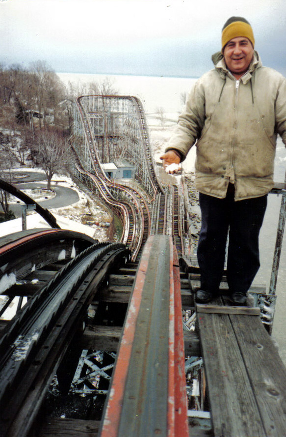
[[[286,144],[286,80],[263,67],[253,30],[242,17],[222,29],[214,69],[194,85],[179,117],[163,166],[179,164],[196,143],[196,188],[202,228],[198,243],[201,290],[218,292],[229,232],[227,280],[234,305],[245,305],[259,269],[259,232],[273,187],[277,134]]]

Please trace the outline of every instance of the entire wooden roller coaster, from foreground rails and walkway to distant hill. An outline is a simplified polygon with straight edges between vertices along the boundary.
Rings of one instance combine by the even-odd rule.
[[[285,435],[286,370],[260,323],[262,318],[271,324],[276,296],[256,291],[261,311],[246,308],[244,315],[237,310],[233,315],[221,301],[210,317],[210,308],[196,308],[201,341],[192,331],[190,282],[199,270],[190,255],[184,179],[160,181],[139,99],[78,97],[71,143],[73,177],[118,217],[122,233],[116,243],[100,243],[61,230],[49,211],[0,181],[51,226],[0,238],[0,437]],[[113,179],[104,171],[104,164],[122,159],[133,166],[133,180]],[[240,320],[255,329],[242,335]],[[221,335],[215,336],[212,326]],[[250,335],[244,345],[252,331],[260,333],[260,343]],[[259,375],[243,356],[250,343],[249,362],[264,353]],[[220,360],[220,348],[227,359]],[[247,396],[229,365],[233,349]],[[213,362],[222,366],[219,374]],[[268,394],[259,397],[257,379],[264,374]],[[232,380],[242,387],[239,393]],[[247,408],[245,397],[251,400]]]

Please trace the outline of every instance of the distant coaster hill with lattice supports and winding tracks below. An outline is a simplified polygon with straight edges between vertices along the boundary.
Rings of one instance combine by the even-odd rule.
[[[178,198],[182,187],[163,186],[158,178],[140,100],[130,96],[83,96],[78,97],[77,107],[75,173],[120,217],[124,228],[122,242],[130,248],[132,260],[150,233],[175,235],[179,254],[189,253],[184,229],[186,208],[180,203],[183,196]],[[138,184],[135,187],[116,183],[105,174],[102,164],[122,158],[134,165],[135,179],[143,190],[139,191]],[[166,222],[173,217],[173,208],[178,214],[176,219],[179,217],[176,229],[173,223]]]

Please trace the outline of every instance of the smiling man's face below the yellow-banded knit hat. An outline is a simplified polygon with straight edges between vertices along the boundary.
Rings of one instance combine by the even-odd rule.
[[[248,70],[254,48],[248,38],[238,36],[226,44],[223,54],[228,69],[239,79]]]

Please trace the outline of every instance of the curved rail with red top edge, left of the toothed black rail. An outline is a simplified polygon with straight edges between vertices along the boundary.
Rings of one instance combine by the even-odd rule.
[[[2,237],[0,239],[0,293],[6,295],[9,302],[19,296],[18,309],[20,309],[23,296],[29,298],[45,285],[45,282],[41,281],[41,272],[45,270],[45,266],[53,264],[56,271],[59,262],[61,264],[68,262],[95,242],[96,240],[88,235],[55,228],[28,230]],[[49,276],[55,274],[55,271],[50,272]],[[36,279],[38,272],[40,279]],[[1,304],[0,317],[9,304]]]

